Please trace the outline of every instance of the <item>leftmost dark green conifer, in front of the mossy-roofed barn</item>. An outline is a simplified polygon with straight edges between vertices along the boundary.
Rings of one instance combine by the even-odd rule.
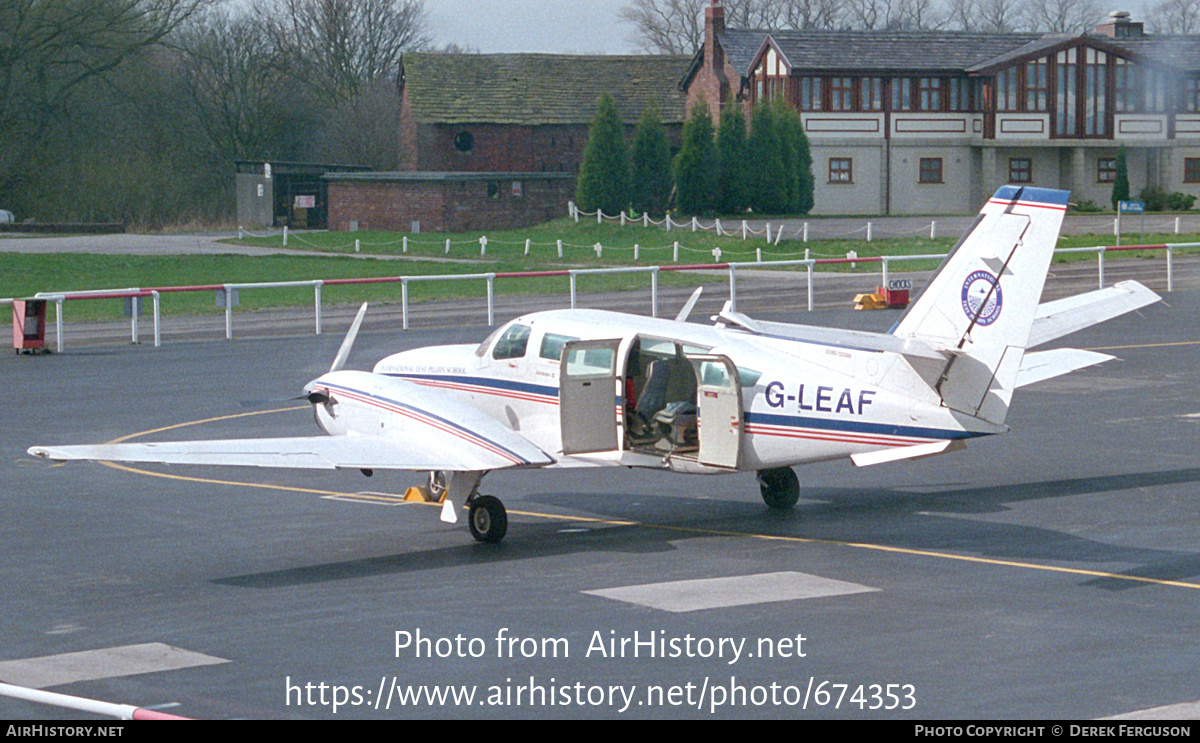
[[[583,211],[600,209],[614,215],[629,206],[629,144],[624,130],[616,102],[604,94],[588,130],[575,187],[575,200]]]

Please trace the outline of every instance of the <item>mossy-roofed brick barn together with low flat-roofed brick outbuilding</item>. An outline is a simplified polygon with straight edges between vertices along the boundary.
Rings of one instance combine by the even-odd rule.
[[[654,107],[678,144],[684,56],[406,54],[400,172],[330,174],[329,227],[509,229],[566,215],[601,94],[632,132]]]

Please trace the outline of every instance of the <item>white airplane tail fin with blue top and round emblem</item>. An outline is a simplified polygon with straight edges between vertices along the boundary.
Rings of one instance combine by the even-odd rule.
[[[1002,424],[1054,257],[1067,191],[1002,186],[892,331],[948,408]]]

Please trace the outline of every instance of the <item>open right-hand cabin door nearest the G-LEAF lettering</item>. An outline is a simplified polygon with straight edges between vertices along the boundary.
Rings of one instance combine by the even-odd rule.
[[[742,385],[728,356],[686,354],[696,370],[701,465],[737,469],[742,459]]]

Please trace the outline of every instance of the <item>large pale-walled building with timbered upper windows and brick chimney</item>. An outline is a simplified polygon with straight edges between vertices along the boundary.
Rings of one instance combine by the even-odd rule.
[[[1105,205],[1121,145],[1134,194],[1200,192],[1200,36],[1128,13],[1075,36],[731,29],[718,0],[704,20],[689,102],[794,106],[814,214],[964,214],[1006,182]]]

